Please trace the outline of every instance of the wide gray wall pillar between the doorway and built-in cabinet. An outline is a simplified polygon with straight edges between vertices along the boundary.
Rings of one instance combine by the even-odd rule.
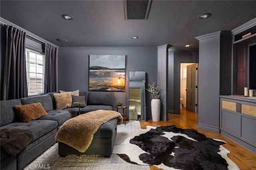
[[[216,32],[197,38],[198,128],[219,133],[220,94],[231,93],[231,32]],[[225,85],[222,90],[221,85]]]

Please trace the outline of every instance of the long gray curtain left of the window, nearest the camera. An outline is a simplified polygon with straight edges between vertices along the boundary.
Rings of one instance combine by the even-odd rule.
[[[25,39],[26,32],[13,26],[6,26],[3,100],[28,97]]]

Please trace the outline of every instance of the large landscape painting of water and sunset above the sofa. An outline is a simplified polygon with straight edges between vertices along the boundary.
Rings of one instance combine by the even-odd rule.
[[[125,55],[89,55],[89,91],[124,91]]]

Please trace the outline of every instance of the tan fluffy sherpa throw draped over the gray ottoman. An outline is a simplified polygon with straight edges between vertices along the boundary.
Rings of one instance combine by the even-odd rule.
[[[58,130],[55,139],[72,146],[79,152],[85,152],[98,128],[112,119],[118,118],[117,125],[123,123],[123,117],[116,111],[92,111],[66,121]]]

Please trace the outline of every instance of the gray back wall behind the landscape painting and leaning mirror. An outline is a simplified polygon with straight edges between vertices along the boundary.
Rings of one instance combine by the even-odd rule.
[[[130,70],[146,71],[146,84],[157,82],[156,47],[60,47],[58,54],[59,90],[88,91],[89,55],[126,55],[126,79],[129,79]],[[128,94],[126,95],[127,105],[129,104]],[[151,99],[150,93],[146,92],[147,119],[151,119]],[[115,92],[114,102],[118,101],[124,102],[124,92]],[[126,115],[129,115],[128,109]]]

